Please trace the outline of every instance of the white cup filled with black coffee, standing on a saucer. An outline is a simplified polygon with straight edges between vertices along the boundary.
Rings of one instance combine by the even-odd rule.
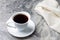
[[[15,27],[12,26],[13,24],[9,25],[10,27],[17,28],[19,30],[24,30],[27,28],[28,23],[30,21],[30,14],[28,12],[17,12],[14,15],[12,15],[11,19]]]

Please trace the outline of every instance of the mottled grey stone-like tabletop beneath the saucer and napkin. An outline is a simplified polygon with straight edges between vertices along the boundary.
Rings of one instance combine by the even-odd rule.
[[[0,40],[60,40],[60,33],[49,28],[41,15],[33,9],[42,0],[0,0]],[[58,0],[59,2],[59,0]],[[15,13],[27,11],[36,24],[35,32],[26,38],[16,38],[10,35],[6,29],[6,21]]]

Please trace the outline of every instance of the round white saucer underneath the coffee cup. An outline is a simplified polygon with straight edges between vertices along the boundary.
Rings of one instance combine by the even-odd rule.
[[[13,28],[13,27],[7,27],[7,30],[11,35],[13,35],[15,37],[27,37],[35,31],[35,24],[33,21],[30,20],[28,25],[30,25],[30,26],[28,26],[23,31],[19,31],[17,28]]]

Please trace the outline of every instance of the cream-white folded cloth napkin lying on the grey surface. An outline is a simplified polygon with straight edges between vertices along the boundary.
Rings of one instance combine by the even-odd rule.
[[[56,0],[44,0],[34,10],[44,17],[50,28],[60,33],[60,10]]]

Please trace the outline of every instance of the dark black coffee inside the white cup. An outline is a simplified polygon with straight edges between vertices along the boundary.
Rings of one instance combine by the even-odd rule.
[[[13,20],[16,22],[16,23],[25,23],[28,21],[28,17],[24,14],[17,14]]]

